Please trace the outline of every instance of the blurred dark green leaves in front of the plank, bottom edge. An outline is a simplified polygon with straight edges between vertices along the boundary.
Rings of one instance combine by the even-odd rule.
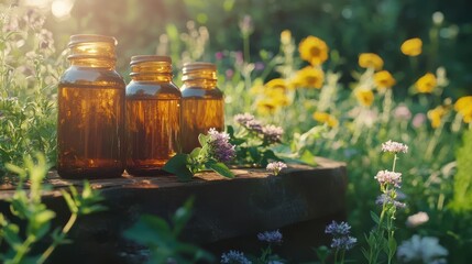
[[[124,237],[149,248],[151,256],[147,263],[211,263],[215,261],[211,254],[178,239],[191,218],[193,204],[194,200],[189,199],[177,209],[171,223],[160,217],[141,216],[138,222],[124,231]]]

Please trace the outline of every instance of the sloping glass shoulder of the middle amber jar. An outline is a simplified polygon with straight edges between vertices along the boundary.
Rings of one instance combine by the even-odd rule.
[[[182,92],[174,82],[134,81],[127,86],[129,99],[180,99]]]

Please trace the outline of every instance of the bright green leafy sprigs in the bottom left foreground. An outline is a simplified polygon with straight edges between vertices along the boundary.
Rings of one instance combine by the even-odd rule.
[[[6,264],[44,263],[56,246],[72,242],[67,239],[67,233],[77,217],[105,209],[98,205],[102,198],[92,191],[88,183],[85,183],[81,194],[70,186],[72,195],[62,191],[69,207],[70,218],[62,229],[52,230],[51,220],[55,218],[56,213],[42,202],[43,191],[48,189],[43,180],[51,164],[42,154],[37,154],[35,161],[25,156],[23,164],[24,168],[12,164],[6,165],[10,172],[19,176],[18,187],[12,198],[9,199],[11,213],[26,223],[26,228],[21,230],[20,226],[15,223],[17,221],[10,221],[3,213],[0,213],[0,245],[7,249],[4,253],[0,254],[0,260]],[[26,182],[29,190],[24,189]],[[46,239],[52,241],[47,249],[40,254],[34,253],[34,246]]]

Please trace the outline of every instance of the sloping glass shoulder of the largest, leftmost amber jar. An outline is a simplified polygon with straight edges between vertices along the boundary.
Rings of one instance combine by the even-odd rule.
[[[64,72],[61,85],[125,86],[123,77],[114,69],[78,66],[70,66]]]

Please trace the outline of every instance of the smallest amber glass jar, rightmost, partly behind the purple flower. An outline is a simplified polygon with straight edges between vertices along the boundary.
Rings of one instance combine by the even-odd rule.
[[[224,130],[223,94],[217,87],[215,64],[187,63],[182,80],[182,148],[190,153],[200,146],[198,134]]]

